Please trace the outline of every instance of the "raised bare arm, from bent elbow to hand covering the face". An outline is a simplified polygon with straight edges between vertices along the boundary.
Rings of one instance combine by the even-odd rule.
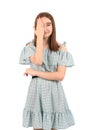
[[[43,60],[43,35],[44,35],[44,28],[41,19],[39,18],[37,21],[37,27],[34,28],[34,33],[37,36],[36,39],[36,52],[35,55],[30,57],[30,60],[37,65],[42,64]]]

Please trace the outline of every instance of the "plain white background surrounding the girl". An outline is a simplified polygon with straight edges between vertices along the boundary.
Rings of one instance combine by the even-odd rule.
[[[29,66],[19,65],[19,56],[24,45],[33,39],[34,19],[42,11],[53,15],[57,40],[67,42],[75,62],[74,67],[67,68],[63,81],[76,123],[69,130],[86,130],[86,0],[0,1],[0,130],[26,129],[22,127],[22,111],[31,76],[23,76]]]

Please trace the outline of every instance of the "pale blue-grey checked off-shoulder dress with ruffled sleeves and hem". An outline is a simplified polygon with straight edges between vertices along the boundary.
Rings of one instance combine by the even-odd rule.
[[[74,65],[70,52],[64,50],[51,51],[44,48],[43,64],[33,64],[29,57],[35,53],[33,42],[25,46],[20,55],[19,63],[30,65],[38,71],[54,72],[57,66],[71,67]],[[25,107],[23,109],[23,126],[43,128],[65,129],[74,125],[74,118],[69,109],[61,81],[33,78],[30,81]]]

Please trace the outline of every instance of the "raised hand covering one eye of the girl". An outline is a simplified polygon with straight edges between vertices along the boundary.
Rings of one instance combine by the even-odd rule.
[[[34,33],[37,36],[37,38],[42,38],[44,36],[44,26],[43,22],[41,21],[41,18],[37,19],[37,26],[36,29],[34,28]]]

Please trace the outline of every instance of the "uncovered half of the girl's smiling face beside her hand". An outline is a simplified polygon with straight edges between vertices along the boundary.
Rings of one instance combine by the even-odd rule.
[[[44,38],[48,38],[52,34],[52,22],[47,17],[42,17],[41,21],[44,27]]]

